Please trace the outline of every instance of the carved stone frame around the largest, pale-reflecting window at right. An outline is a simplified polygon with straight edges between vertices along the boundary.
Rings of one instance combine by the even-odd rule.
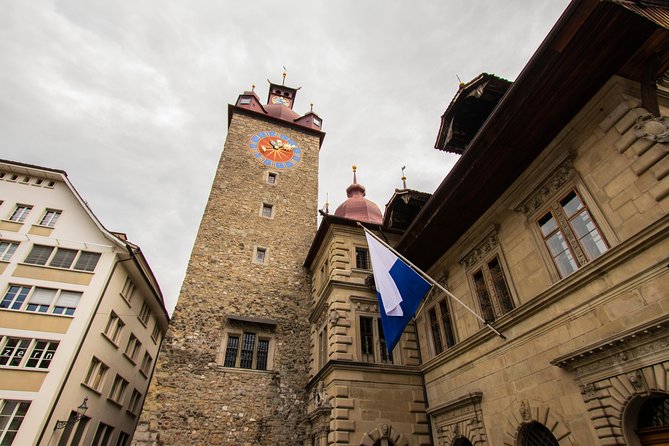
[[[553,260],[553,256],[549,252],[544,241],[544,236],[541,232],[541,227],[539,226],[539,220],[551,210],[551,206],[555,204],[559,205],[560,201],[571,191],[576,192],[583,202],[583,205],[590,213],[593,222],[600,231],[600,235],[608,245],[607,252],[611,251],[611,249],[619,243],[615,231],[600,210],[597,201],[576,172],[573,165],[573,159],[571,156],[565,157],[557,163],[556,167],[545,177],[543,182],[535,187],[533,192],[528,194],[514,209],[516,212],[525,214],[527,224],[530,226],[530,233],[532,234],[534,243],[537,247],[537,252],[541,256],[553,283],[557,283],[560,280],[577,273],[584,266],[597,261],[599,257],[606,254],[606,252],[604,252],[592,261],[583,262],[579,268],[565,277],[560,275],[558,267]]]

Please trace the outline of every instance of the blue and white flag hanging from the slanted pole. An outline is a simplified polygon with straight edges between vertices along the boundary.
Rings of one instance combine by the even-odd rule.
[[[383,333],[388,352],[392,352],[432,285],[367,230],[365,237],[372,260]]]

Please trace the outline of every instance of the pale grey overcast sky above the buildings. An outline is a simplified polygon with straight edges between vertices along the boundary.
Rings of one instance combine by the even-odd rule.
[[[514,80],[565,0],[25,1],[0,14],[1,158],[67,171],[109,230],[148,258],[171,312],[227,132],[267,78],[323,118],[319,207],[351,165],[383,209],[406,166],[433,192],[458,77]]]

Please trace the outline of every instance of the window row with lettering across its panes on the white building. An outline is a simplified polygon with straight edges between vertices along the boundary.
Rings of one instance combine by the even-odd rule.
[[[56,341],[9,336],[0,338],[0,345],[0,365],[31,369],[48,369],[58,348]]]

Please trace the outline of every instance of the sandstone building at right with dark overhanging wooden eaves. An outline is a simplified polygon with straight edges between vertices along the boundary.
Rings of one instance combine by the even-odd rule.
[[[482,75],[446,110],[462,156],[397,247],[506,340],[428,296],[434,444],[669,444],[668,38],[573,2],[505,94]]]

